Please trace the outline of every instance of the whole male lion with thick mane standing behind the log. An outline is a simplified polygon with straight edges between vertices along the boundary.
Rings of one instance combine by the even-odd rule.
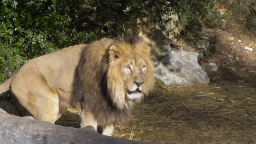
[[[68,107],[80,111],[81,127],[103,124],[103,135],[130,115],[154,87],[150,48],[139,37],[103,38],[31,59],[9,80],[8,89],[34,118],[55,121]]]

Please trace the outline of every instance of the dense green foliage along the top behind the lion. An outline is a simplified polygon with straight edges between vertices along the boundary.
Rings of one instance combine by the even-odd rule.
[[[141,26],[164,31],[174,11],[188,39],[213,9],[210,0],[1,0],[0,83],[28,59],[102,37],[136,33]],[[167,34],[175,35],[174,31]],[[191,37],[191,38],[190,38]]]

